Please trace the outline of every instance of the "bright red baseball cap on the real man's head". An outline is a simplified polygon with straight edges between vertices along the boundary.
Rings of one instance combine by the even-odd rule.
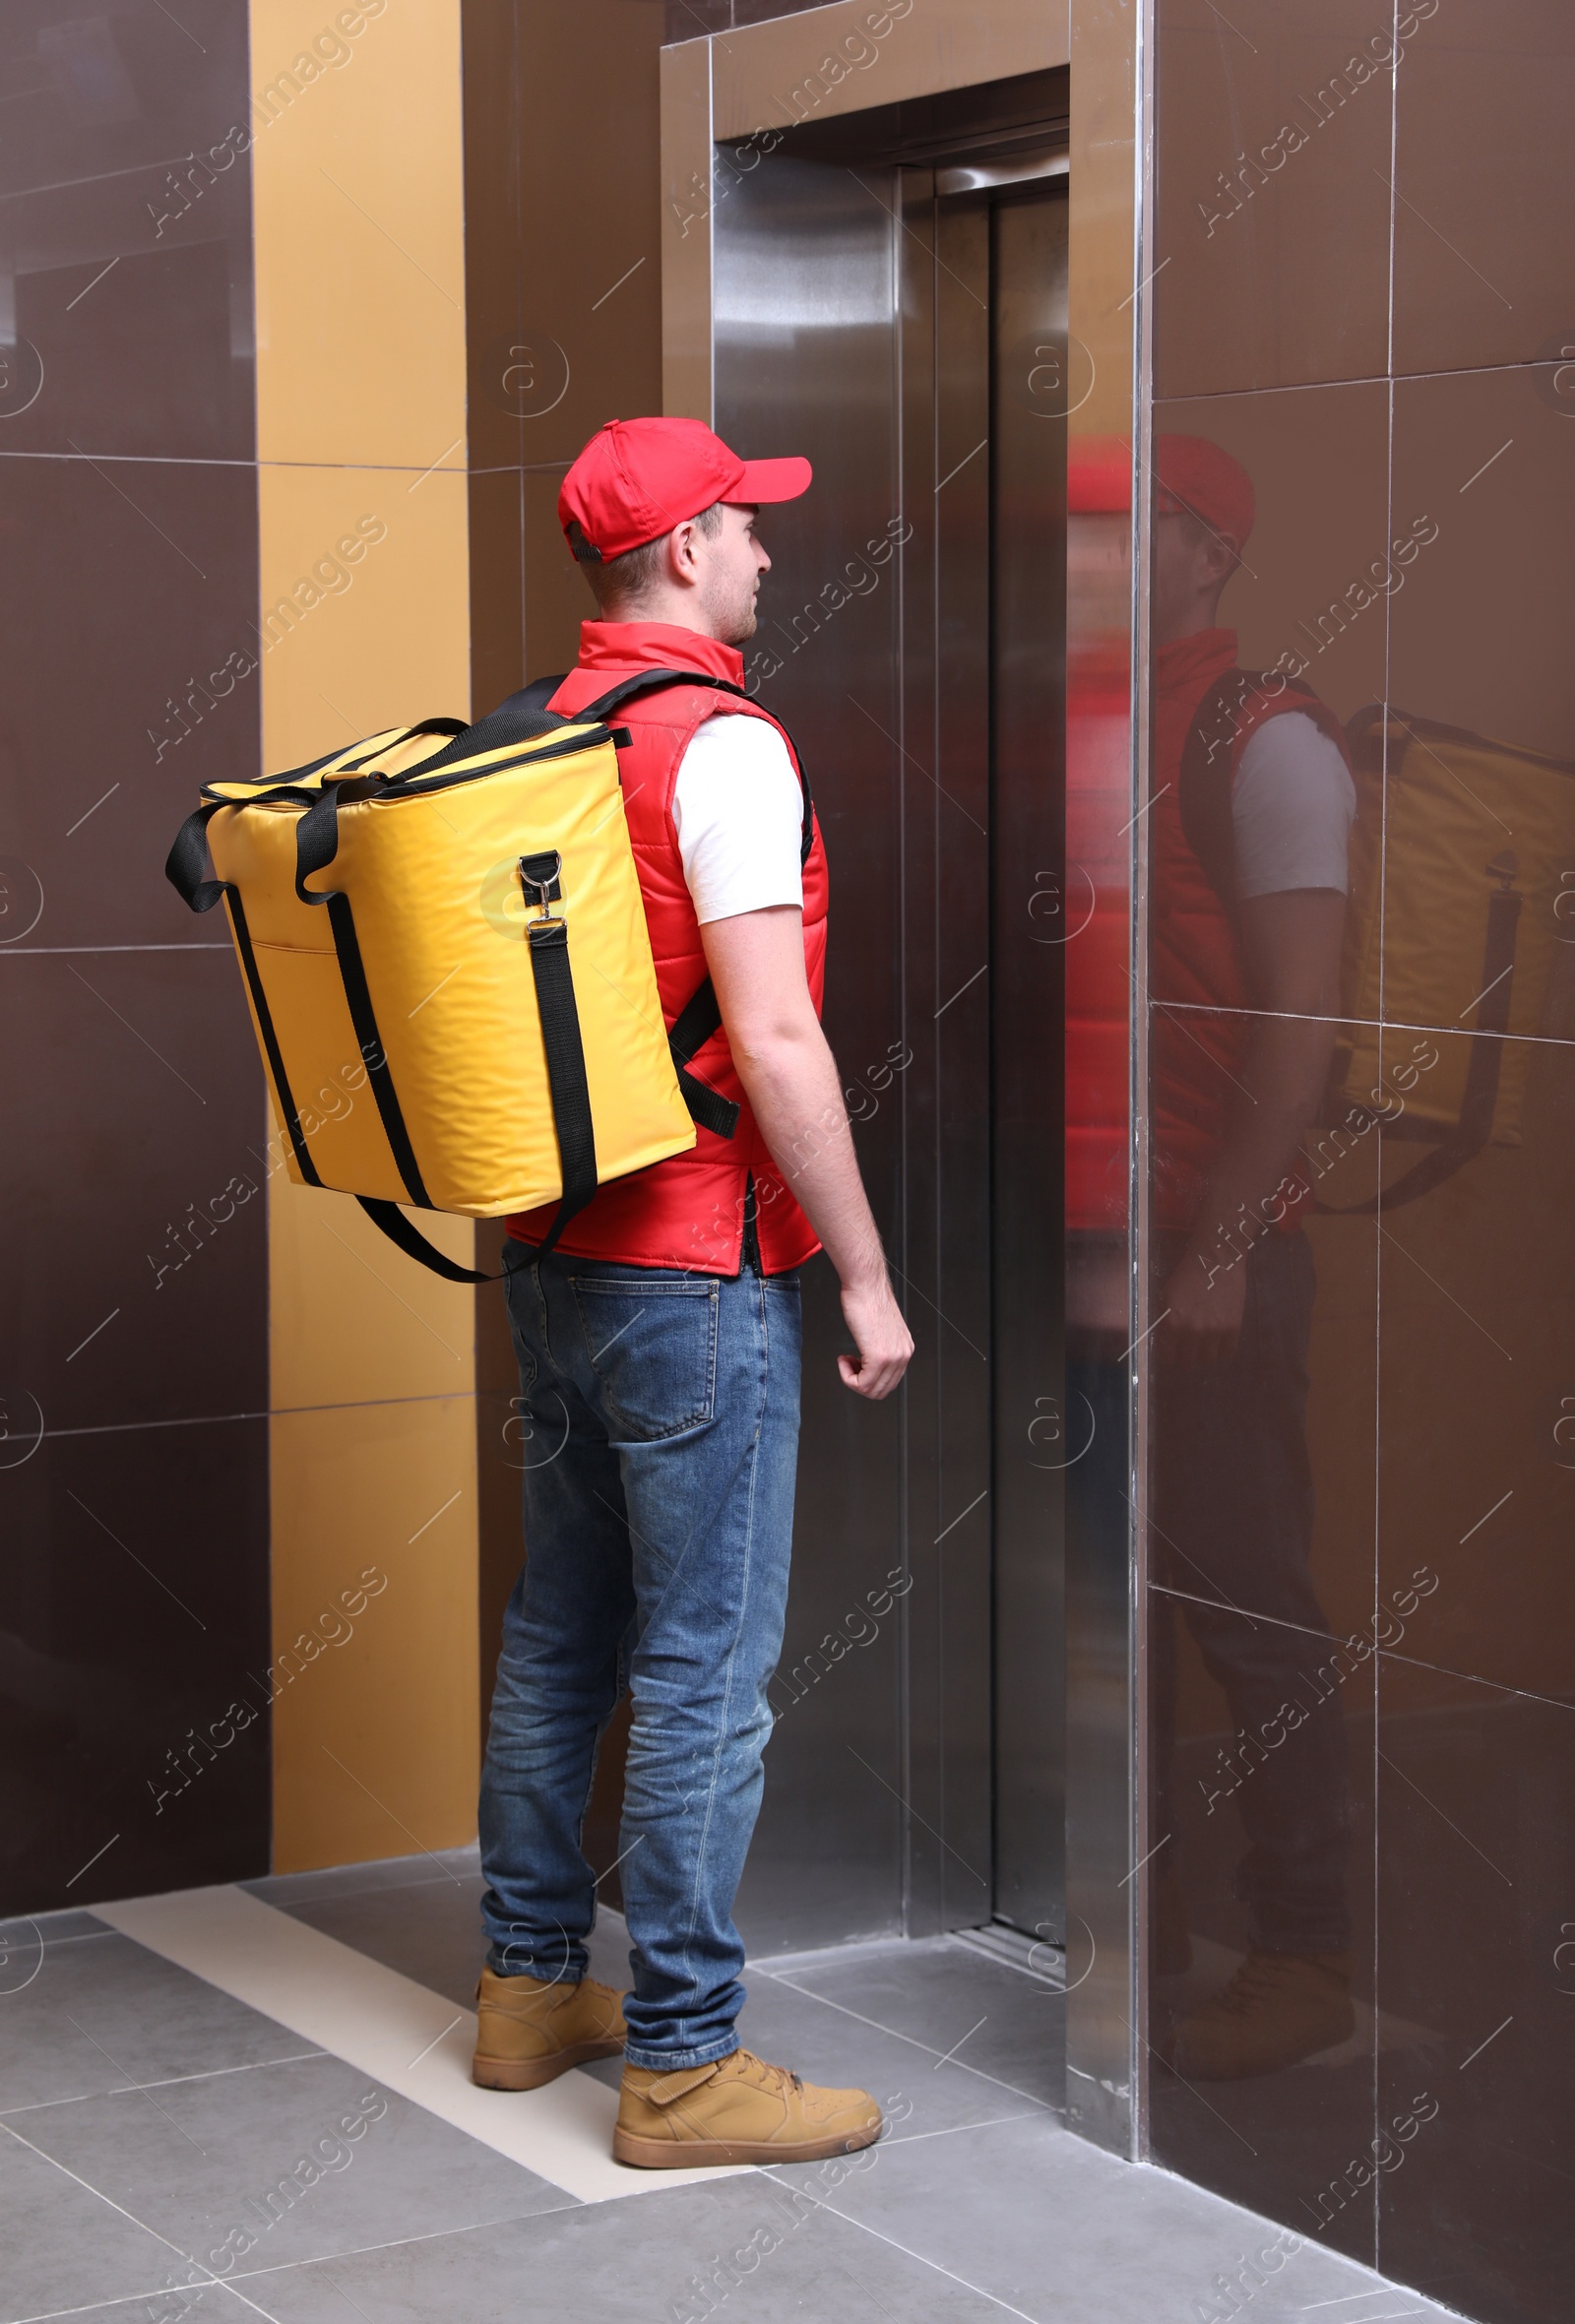
[[[704,421],[609,421],[562,481],[558,521],[602,558],[643,548],[718,500],[757,507],[808,493],[808,460],[741,460]]]

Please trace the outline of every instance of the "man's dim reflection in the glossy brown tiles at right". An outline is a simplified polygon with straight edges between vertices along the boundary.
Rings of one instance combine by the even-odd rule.
[[[1252,530],[1245,469],[1201,437],[1159,437],[1155,493],[1155,1831],[1173,1827],[1180,1604],[1236,1729],[1210,1813],[1229,1796],[1247,1834],[1250,1952],[1171,2054],[1187,2078],[1227,2078],[1354,2024],[1343,1708],[1303,1676],[1329,1631],[1308,1571],[1296,1157],[1333,1053],[1357,797],[1333,713],[1282,674],[1240,672],[1236,632],[1215,625]],[[1162,1973],[1187,1957],[1175,1871],[1159,1859]]]

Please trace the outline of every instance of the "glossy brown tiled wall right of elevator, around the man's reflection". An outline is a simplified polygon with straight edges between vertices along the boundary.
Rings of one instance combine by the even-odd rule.
[[[1217,2082],[1157,2068],[1155,2152],[1468,2315],[1552,2324],[1566,2196],[1542,2157],[1575,1982],[1559,1950],[1575,1910],[1575,323],[1556,128],[1575,28],[1552,0],[1243,0],[1229,21],[1162,0],[1157,67],[1155,430],[1213,439],[1257,490],[1222,621],[1247,667],[1292,651],[1343,720],[1389,706],[1357,830],[1382,932],[1361,997],[1347,976],[1340,1006],[1361,1023],[1340,1037],[1373,1067],[1433,1053],[1401,1127],[1459,1116],[1484,1043],[1501,1097],[1489,1143],[1433,1192],[1310,1220],[1303,1425],[1275,1434],[1238,1376],[1203,1392],[1155,1373],[1155,1506],[1168,1494],[1173,1513],[1157,1515],[1155,1634],[1178,1638],[1155,1657],[1173,1671],[1155,1697],[1155,1836],[1171,1834],[1155,2040],[1254,1941],[1250,1841],[1259,1873],[1273,1859],[1287,1950],[1312,1950],[1336,1896],[1357,1999],[1354,2033],[1312,2061]],[[1419,546],[1396,562],[1405,537]],[[1480,1030],[1503,851],[1522,895],[1505,1037]],[[1210,1030],[1196,1009],[1187,1023]],[[1385,1141],[1387,1188],[1433,1150],[1431,1127]],[[1373,1195],[1378,1148],[1319,1195]],[[1282,1355],[1294,1371],[1296,1348]],[[1352,1636],[1361,1650],[1331,1664]],[[1287,1699],[1333,1694],[1331,1755],[1261,1736],[1254,1666]]]

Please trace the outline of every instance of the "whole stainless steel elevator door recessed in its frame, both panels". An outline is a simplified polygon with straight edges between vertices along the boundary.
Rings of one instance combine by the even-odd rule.
[[[997,1913],[1059,1934],[1059,1499],[1031,1422],[1059,1390],[1059,964],[1034,883],[1059,862],[1064,428],[1034,379],[1004,397],[1031,335],[1064,332],[1064,205],[936,200],[929,158],[736,160],[715,425],[815,465],[762,511],[746,669],[815,788],[827,1032],[918,1343],[904,1394],[864,1406],[832,1274],[806,1271],[739,1917],[755,1950]]]

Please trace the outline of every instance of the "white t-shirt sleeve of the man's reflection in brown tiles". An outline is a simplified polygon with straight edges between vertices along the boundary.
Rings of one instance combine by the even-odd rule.
[[[1303,711],[1280,711],[1247,739],[1231,792],[1236,890],[1350,890],[1357,786],[1338,746]]]

